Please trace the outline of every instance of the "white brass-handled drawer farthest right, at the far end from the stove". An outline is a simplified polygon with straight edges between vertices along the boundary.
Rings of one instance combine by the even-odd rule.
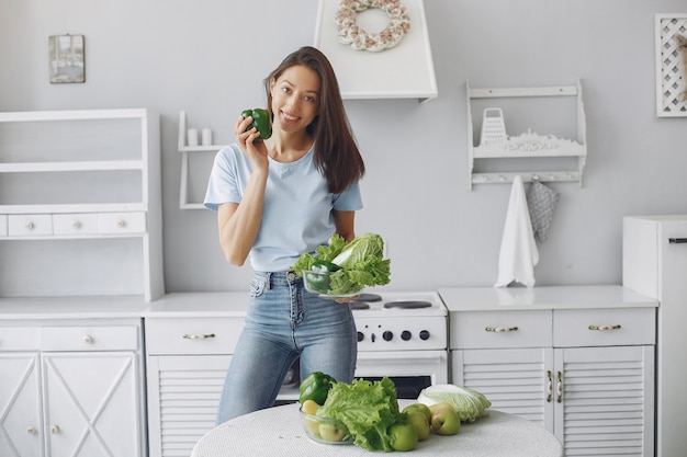
[[[655,308],[553,312],[553,345],[556,347],[655,344]]]

